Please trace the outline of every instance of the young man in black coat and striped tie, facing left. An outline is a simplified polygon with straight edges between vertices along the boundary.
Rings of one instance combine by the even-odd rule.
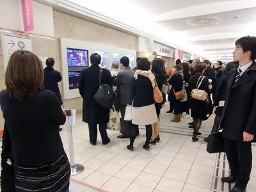
[[[236,182],[230,192],[244,192],[252,170],[252,142],[256,141],[256,37],[236,41],[234,61],[239,67],[228,76],[225,105],[220,128],[223,128],[225,152],[231,175],[223,182]]]

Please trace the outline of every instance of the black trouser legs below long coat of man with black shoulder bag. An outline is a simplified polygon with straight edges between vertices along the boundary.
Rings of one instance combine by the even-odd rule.
[[[97,124],[88,124],[90,142],[97,143]],[[103,144],[108,143],[107,123],[99,124],[100,136]]]

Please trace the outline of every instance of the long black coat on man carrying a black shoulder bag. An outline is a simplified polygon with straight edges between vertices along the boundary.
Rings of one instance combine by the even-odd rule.
[[[109,121],[109,109],[102,108],[93,98],[99,89],[99,76],[99,65],[91,65],[81,71],[79,78],[79,93],[83,97],[83,122],[88,124],[103,124]],[[110,71],[106,68],[102,68],[101,84],[113,86]]]

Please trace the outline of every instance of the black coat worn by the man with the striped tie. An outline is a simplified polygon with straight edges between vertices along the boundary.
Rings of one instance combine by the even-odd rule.
[[[236,68],[228,77],[225,105],[222,112],[220,128],[223,138],[243,140],[243,132],[254,134],[256,137],[256,63],[241,75],[234,83]]]

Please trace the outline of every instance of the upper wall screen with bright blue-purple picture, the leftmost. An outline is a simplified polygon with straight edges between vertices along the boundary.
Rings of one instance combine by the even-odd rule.
[[[68,67],[88,67],[88,50],[67,48]]]

